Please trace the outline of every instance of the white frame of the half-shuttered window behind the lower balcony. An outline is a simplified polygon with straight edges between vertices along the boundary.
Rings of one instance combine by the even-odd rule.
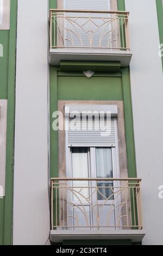
[[[68,107],[68,108],[67,108]],[[118,130],[117,130],[117,105],[66,105],[65,106],[65,147],[66,147],[66,176],[67,178],[73,178],[72,177],[72,154],[71,154],[71,148],[72,147],[80,147],[80,145],[76,145],[70,147],[70,145],[68,145],[68,122],[69,122],[69,111],[78,111],[78,112],[82,112],[83,109],[86,109],[87,111],[89,110],[97,110],[99,109],[99,111],[105,110],[107,109],[107,111],[110,109],[110,112],[112,113],[112,115],[114,115],[114,122],[115,122],[115,146],[114,147],[106,147],[106,145],[103,147],[101,145],[101,147],[103,148],[111,148],[111,153],[112,153],[112,170],[113,170],[113,178],[120,178],[120,161],[119,161],[119,150],[118,150]],[[84,147],[84,146],[83,146]],[[86,146],[85,146],[86,147]],[[95,161],[91,160],[91,157],[93,157],[94,159],[96,159],[96,148],[99,148],[99,146],[97,147],[97,145],[95,146],[91,146],[89,147],[89,145],[87,146],[87,148],[90,148],[90,153],[88,153],[88,164],[89,164],[89,178],[96,178],[96,163]],[[89,156],[90,154],[90,156]],[[90,162],[91,162],[91,167],[90,167]],[[93,167],[92,167],[93,164]],[[95,182],[94,182],[95,183]],[[120,186],[120,182],[118,181],[114,181],[113,182],[114,187],[118,187]],[[69,185],[72,186],[72,182],[69,182]],[[93,181],[91,182],[91,186],[93,186]],[[67,195],[68,196],[68,195]],[[71,198],[69,198],[68,200],[72,200]],[[118,202],[121,202],[120,198],[117,198]],[[102,203],[101,200],[98,200],[99,204]],[[82,202],[84,204],[84,202]],[[108,205],[111,204],[111,200],[108,201]],[[69,207],[70,208],[70,207]],[[72,209],[70,208],[68,210],[69,212],[72,211]],[[73,212],[71,212],[71,214],[73,215]],[[116,214],[116,220],[117,220],[117,211],[115,211]],[[90,222],[92,224],[93,219],[90,219]],[[73,226],[73,223],[71,223],[71,225]],[[73,228],[72,228],[73,229]],[[121,229],[121,228],[116,228],[116,229]]]

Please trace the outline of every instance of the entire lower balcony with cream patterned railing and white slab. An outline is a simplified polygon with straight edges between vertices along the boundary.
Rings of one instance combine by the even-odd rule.
[[[51,241],[129,239],[145,235],[140,179],[52,179]]]

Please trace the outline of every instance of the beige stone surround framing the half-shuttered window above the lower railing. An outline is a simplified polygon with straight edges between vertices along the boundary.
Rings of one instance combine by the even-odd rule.
[[[120,158],[120,178],[128,177],[127,168],[127,150],[126,150],[126,135],[124,127],[124,111],[123,101],[58,101],[58,111],[61,111],[63,116],[65,105],[117,105],[118,106],[118,148]],[[64,120],[65,127],[65,120]],[[59,155],[59,178],[66,177],[66,147],[65,147],[65,131],[58,132],[58,155]]]

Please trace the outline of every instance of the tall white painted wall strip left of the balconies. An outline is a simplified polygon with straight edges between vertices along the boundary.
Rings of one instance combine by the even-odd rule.
[[[48,0],[18,0],[14,245],[45,245],[48,205]]]

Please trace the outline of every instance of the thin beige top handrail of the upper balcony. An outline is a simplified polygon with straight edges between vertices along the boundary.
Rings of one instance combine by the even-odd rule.
[[[105,11],[105,10],[101,10],[101,11],[97,11],[97,10],[71,10],[71,9],[50,9],[50,13],[52,11],[55,11],[56,13],[108,13],[108,14],[128,14],[129,15],[129,11]]]

